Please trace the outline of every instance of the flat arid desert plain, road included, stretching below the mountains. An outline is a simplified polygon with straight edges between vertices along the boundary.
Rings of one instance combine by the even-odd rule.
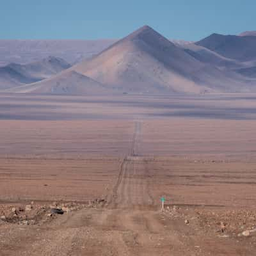
[[[255,255],[255,99],[1,95],[0,255]]]

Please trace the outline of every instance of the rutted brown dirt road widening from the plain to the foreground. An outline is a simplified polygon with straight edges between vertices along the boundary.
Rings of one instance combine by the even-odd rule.
[[[59,216],[45,225],[6,226],[0,255],[252,255],[236,239],[204,236],[182,216],[159,211],[150,195],[147,157],[140,155],[143,123],[134,122],[129,154],[106,204]]]

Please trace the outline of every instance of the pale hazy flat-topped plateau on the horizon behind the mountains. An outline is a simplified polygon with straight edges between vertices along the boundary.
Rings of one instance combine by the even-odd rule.
[[[27,64],[48,56],[62,58],[71,65],[91,58],[103,51],[116,39],[99,40],[0,40],[0,67],[10,63]],[[173,44],[189,44],[191,41],[172,40]]]

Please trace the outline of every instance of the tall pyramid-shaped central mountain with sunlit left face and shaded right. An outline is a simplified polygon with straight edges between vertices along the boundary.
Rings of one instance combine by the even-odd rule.
[[[102,84],[127,92],[247,90],[243,78],[234,72],[205,65],[148,26],[73,68]]]

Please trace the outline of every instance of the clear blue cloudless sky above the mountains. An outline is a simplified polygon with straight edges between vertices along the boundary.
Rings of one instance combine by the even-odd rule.
[[[1,39],[122,38],[147,24],[168,38],[256,30],[256,0],[1,0]]]

